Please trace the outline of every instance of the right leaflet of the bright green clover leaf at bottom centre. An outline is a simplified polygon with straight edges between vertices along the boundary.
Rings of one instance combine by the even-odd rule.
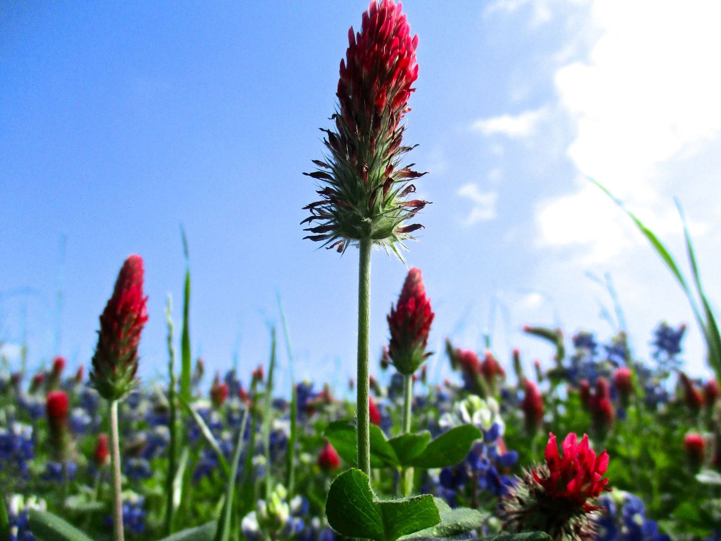
[[[441,522],[441,516],[430,494],[381,501],[379,506],[383,513],[386,541],[396,541],[404,535],[428,529]]]

